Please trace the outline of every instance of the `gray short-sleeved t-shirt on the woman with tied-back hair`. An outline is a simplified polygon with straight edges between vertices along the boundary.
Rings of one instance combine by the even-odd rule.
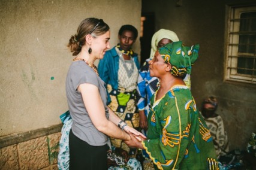
[[[80,84],[90,83],[98,87],[105,107],[107,119],[109,111],[107,109],[107,93],[104,81],[88,66],[83,60],[73,62],[68,70],[66,80],[66,93],[70,115],[73,119],[72,132],[78,138],[88,142],[90,145],[100,146],[107,144],[108,136],[98,131],[83,104],[81,93],[77,90]],[[97,114],[97,113],[94,113]]]

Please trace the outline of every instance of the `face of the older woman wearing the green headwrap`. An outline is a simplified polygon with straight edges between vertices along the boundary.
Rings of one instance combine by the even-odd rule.
[[[164,62],[159,51],[155,52],[155,56],[149,61],[149,71],[151,77],[161,77],[166,73],[168,64]]]

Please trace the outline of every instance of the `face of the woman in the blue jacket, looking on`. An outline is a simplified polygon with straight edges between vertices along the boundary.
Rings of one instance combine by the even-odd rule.
[[[123,50],[129,50],[135,42],[134,34],[131,31],[125,30],[121,35],[118,35],[120,46]]]

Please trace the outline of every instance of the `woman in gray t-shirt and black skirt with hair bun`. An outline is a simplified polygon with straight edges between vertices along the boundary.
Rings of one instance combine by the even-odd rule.
[[[68,43],[76,56],[68,70],[66,93],[73,125],[70,130],[70,169],[107,169],[108,136],[129,141],[133,134],[145,138],[127,126],[107,107],[104,82],[94,65],[110,48],[109,26],[103,20],[88,18],[80,23],[77,34]],[[128,133],[129,134],[128,134]]]

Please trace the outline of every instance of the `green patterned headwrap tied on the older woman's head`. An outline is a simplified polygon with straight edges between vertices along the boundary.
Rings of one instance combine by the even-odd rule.
[[[165,62],[171,64],[171,74],[183,77],[191,74],[191,68],[198,57],[199,44],[185,47],[182,41],[171,42],[158,49]]]

